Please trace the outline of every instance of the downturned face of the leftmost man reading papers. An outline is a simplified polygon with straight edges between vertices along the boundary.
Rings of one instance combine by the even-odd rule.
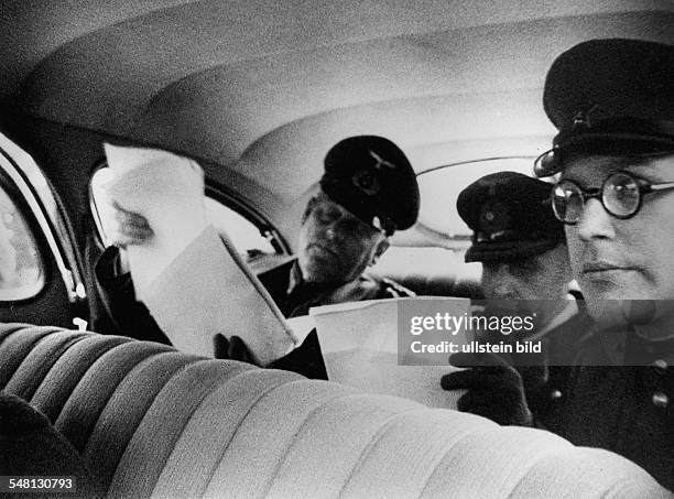
[[[309,200],[307,211],[297,247],[307,282],[351,281],[388,247],[382,232],[325,196]]]

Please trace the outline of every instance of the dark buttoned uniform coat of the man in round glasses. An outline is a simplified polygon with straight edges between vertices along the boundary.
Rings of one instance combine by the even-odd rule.
[[[578,303],[579,314],[545,335],[548,382],[525,388],[535,425],[620,454],[674,491],[674,340],[655,349],[633,334],[596,332]],[[559,365],[574,351],[573,366]]]

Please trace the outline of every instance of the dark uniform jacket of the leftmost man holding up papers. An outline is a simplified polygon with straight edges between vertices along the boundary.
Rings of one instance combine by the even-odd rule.
[[[102,327],[97,329],[100,333],[171,345],[146,306],[135,300],[131,274],[120,273],[118,265],[119,251],[115,247],[107,248],[96,264],[98,293],[108,317],[95,321],[94,328],[98,328],[100,324]],[[391,280],[374,280],[366,275],[338,286],[306,283],[302,280],[296,260],[268,270],[258,278],[286,317],[306,315],[312,306],[414,295]],[[327,379],[315,330],[309,333],[300,347],[268,367],[292,370],[308,378]]]

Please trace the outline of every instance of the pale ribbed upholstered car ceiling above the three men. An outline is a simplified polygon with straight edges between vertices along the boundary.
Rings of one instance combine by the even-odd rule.
[[[416,171],[542,152],[547,66],[590,37],[674,43],[671,1],[3,1],[0,98],[183,151],[265,211],[339,139],[377,133]],[[267,207],[269,208],[269,206]]]

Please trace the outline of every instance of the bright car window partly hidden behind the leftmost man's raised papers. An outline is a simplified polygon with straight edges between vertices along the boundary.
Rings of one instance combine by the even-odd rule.
[[[91,211],[96,219],[98,232],[105,246],[109,245],[109,237],[104,227],[108,226],[106,220],[113,216],[110,203],[107,199],[106,183],[110,180],[111,172],[108,167],[98,169],[91,176]],[[229,239],[247,260],[260,254],[275,254],[276,250],[271,242],[262,236],[260,228],[248,218],[225,206],[213,197],[206,197],[206,216],[220,234],[227,234]]]

